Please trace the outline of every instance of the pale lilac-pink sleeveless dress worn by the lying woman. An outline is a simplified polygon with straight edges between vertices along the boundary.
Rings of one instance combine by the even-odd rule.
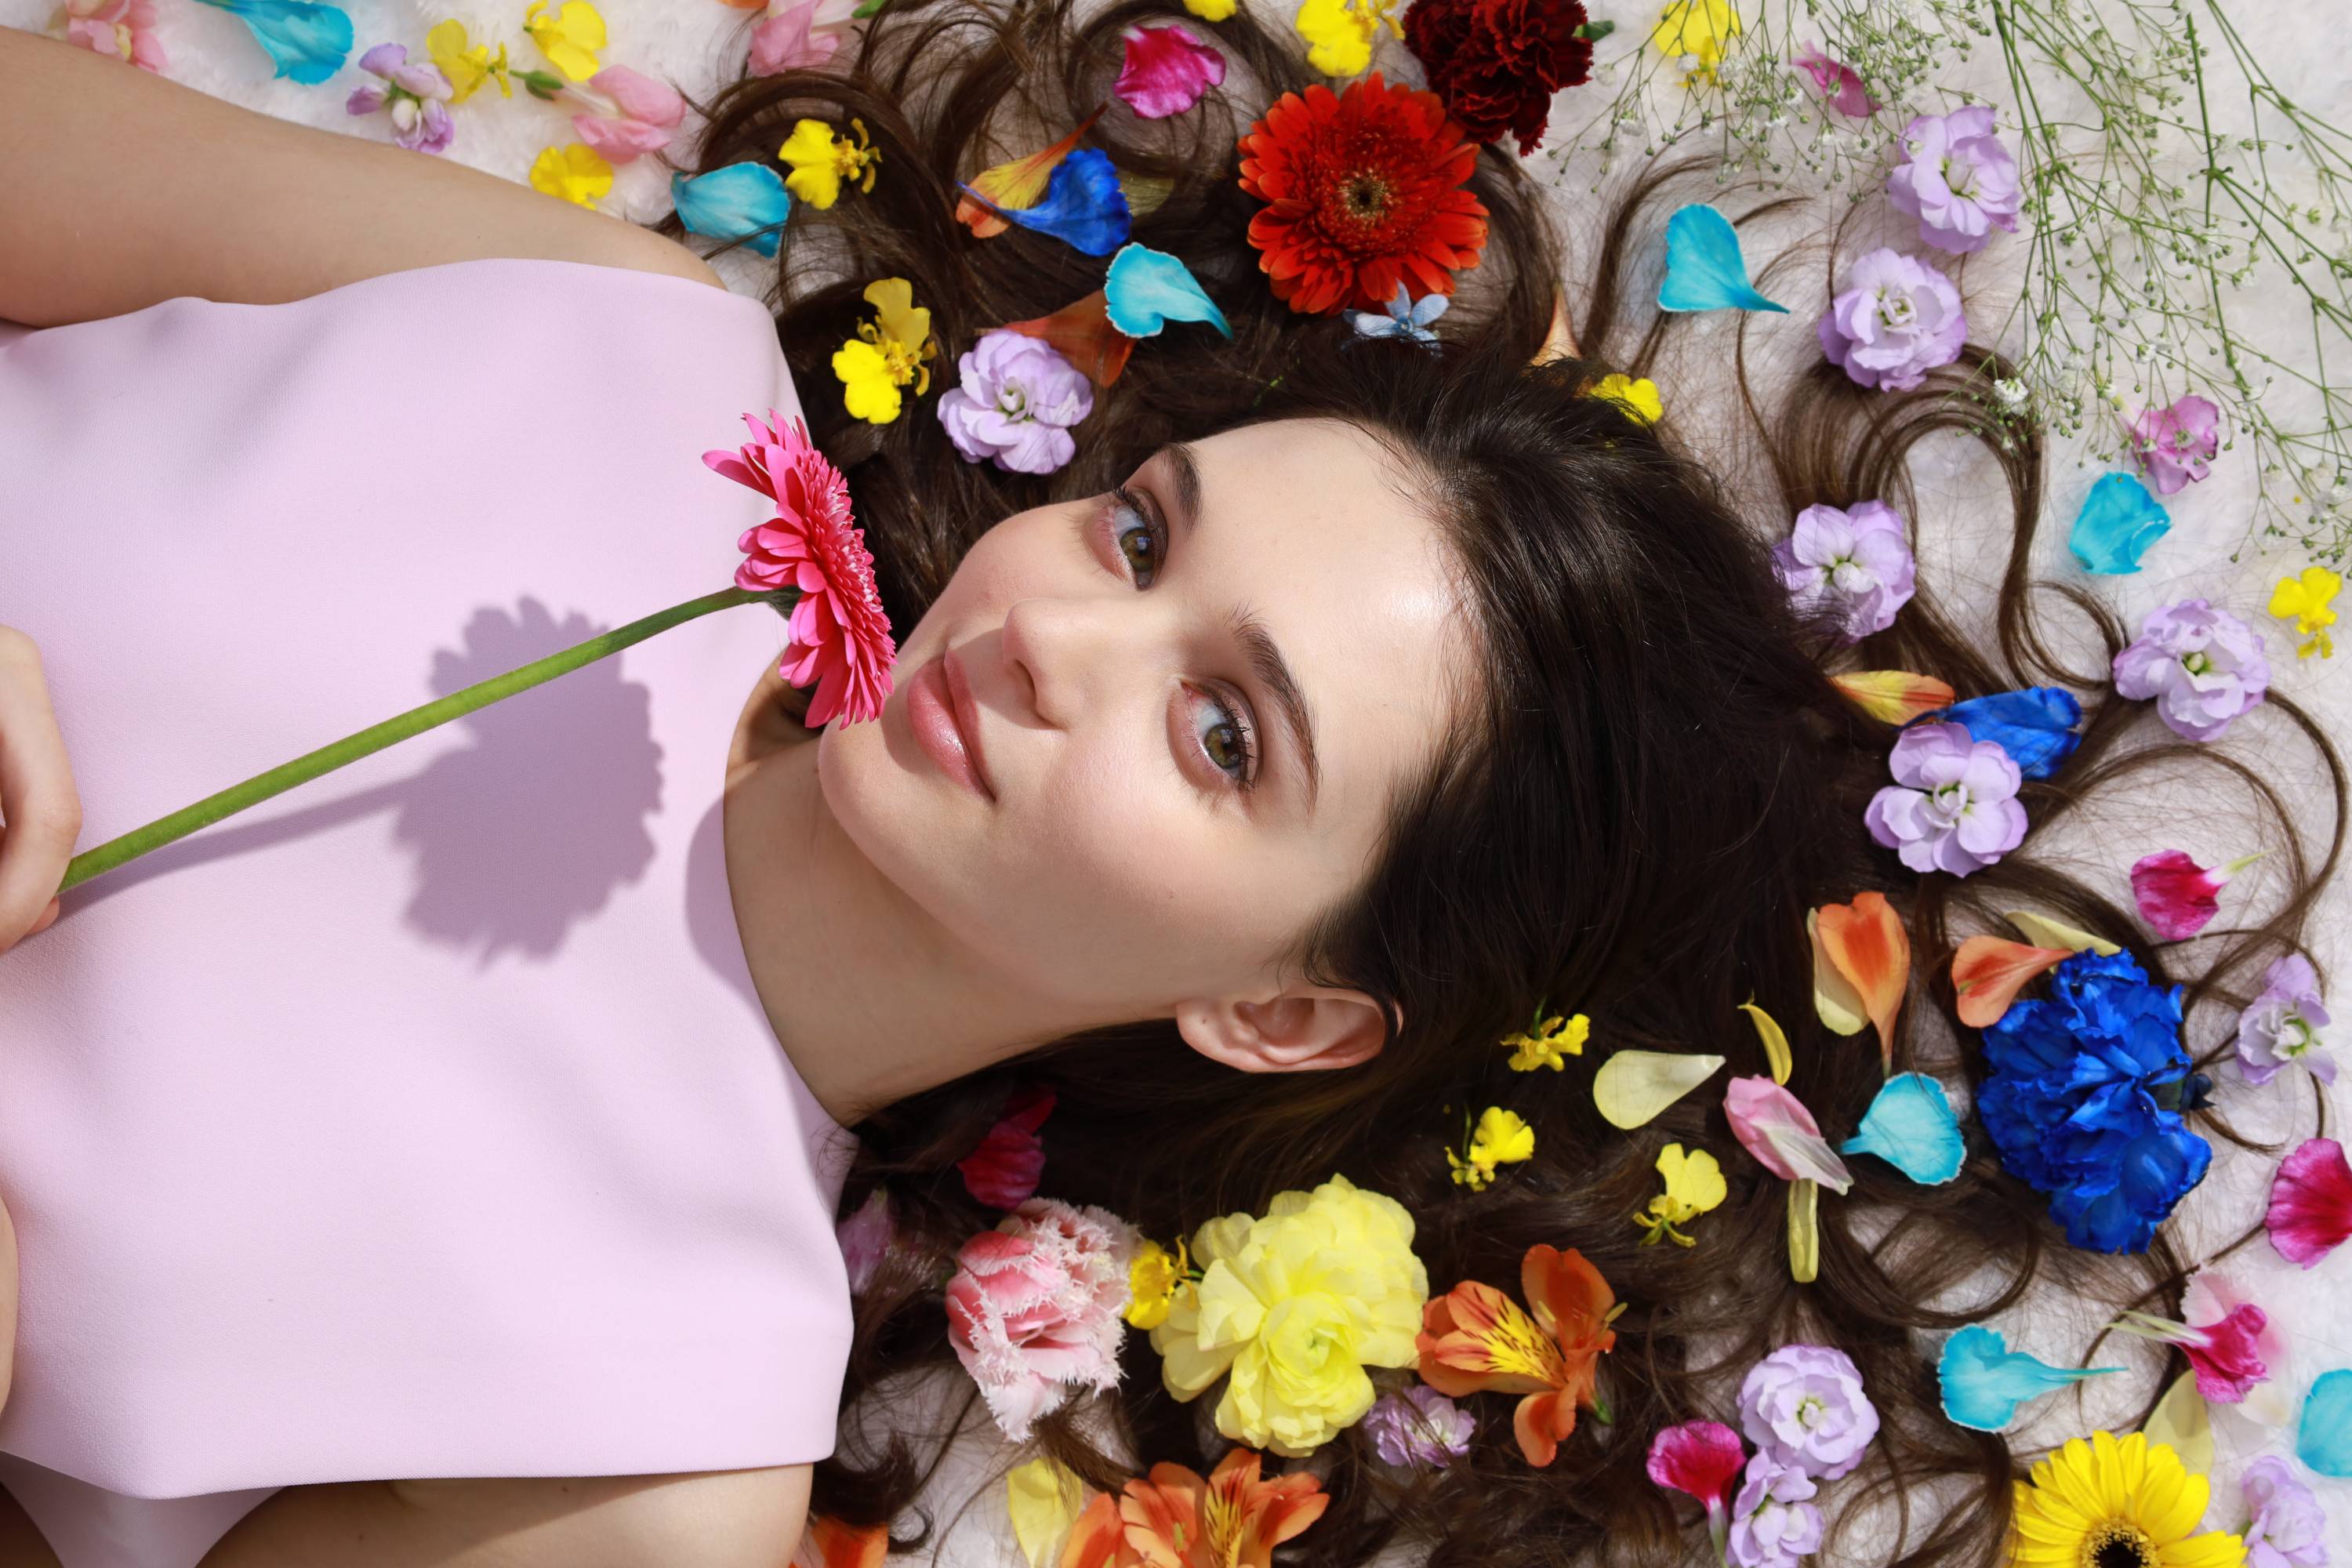
[[[82,849],[724,588],[795,414],[757,301],[466,261],[0,336],[0,623]],[[760,1011],[729,738],[767,607],[108,872],[0,954],[0,1481],[66,1568],[268,1488],[833,1450],[847,1135]]]

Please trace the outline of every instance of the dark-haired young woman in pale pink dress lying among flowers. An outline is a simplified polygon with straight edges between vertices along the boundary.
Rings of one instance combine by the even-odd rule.
[[[1757,409],[1783,494],[1743,522],[1583,395],[1639,212],[1588,268],[1583,357],[1550,357],[1562,256],[1508,153],[1472,179],[1489,237],[1442,353],[1348,343],[1244,237],[1232,141],[1308,80],[1247,12],[1200,110],[1091,132],[1232,339],[1141,343],[1051,477],[964,463],[924,402],[849,418],[828,360],[870,280],[908,277],[948,353],[1101,287],[950,216],[957,179],[1108,96],[1120,28],[1167,19],[1073,9],[896,0],[840,68],[710,106],[701,169],[802,115],[882,150],[873,193],[786,228],[774,331],[644,233],[0,35],[0,315],[61,324],[0,350],[9,1561],[774,1563],[809,1507],[908,1526],[929,1453],[830,1458],[835,1410],[948,1359],[946,1262],[995,1220],[948,1166],[1035,1084],[1047,1190],[1145,1234],[1345,1173],[1411,1211],[1437,1288],[1543,1241],[1630,1302],[1613,1422],[1541,1472],[1486,1422],[1411,1483],[1350,1429],[1301,1561],[1672,1561],[1649,1436],[1799,1333],[1884,1418],[1851,1495],[1945,1483],[1872,1556],[1990,1561],[2011,1460],[1936,1413],[1915,1331],[2089,1281],[2042,1199],[1990,1159],[1933,1190],[1858,1171],[1797,1286],[1780,1182],[1726,1159],[1703,1248],[1639,1248],[1658,1147],[1731,1140],[1705,1095],[1604,1126],[1590,1067],[1762,1072],[1755,997],[1835,1140],[1882,1067],[1811,1023],[1809,907],[1884,889],[1922,978],[2020,893],[2133,929],[2025,851],[1952,882],[1870,846],[1891,731],[1769,557],[1778,508],[1910,512],[1910,444],[1985,435],[2018,517],[1997,644],[1922,592],[1858,658],[2082,691],[2077,762],[2027,785],[2046,832],[2166,748],[2032,614],[2039,447],[1971,425],[1957,369],[1910,400],[1813,376]],[[120,153],[158,143],[205,148],[202,202]],[[903,632],[877,722],[807,733],[776,621],[729,611],[49,903],[73,844],[414,703],[428,651],[452,689],[708,590],[760,498],[696,458],[767,407],[849,475]],[[1472,1194],[1444,1150],[1545,1001],[1604,1046],[1510,1084],[1538,1154]],[[1915,1001],[1898,1056],[1969,1077]],[[877,1185],[896,1241],[851,1312],[830,1222]],[[1042,1441],[1098,1481],[1207,1467],[1197,1408],[1129,1354],[1127,1453],[1075,1410]]]

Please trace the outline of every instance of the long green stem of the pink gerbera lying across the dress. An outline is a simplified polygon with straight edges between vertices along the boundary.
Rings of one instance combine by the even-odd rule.
[[[207,795],[193,806],[181,806],[172,816],[160,816],[146,827],[134,827],[120,839],[106,839],[96,849],[85,849],[73,856],[66,865],[66,879],[59,891],[80,886],[99,872],[111,872],[118,865],[136,860],[151,849],[160,849],[172,839],[183,839],[198,827],[209,827],[226,816],[235,816],[247,806],[261,804],[273,795],[285,795],[294,785],[310,783],[320,773],[332,773],[346,762],[358,762],[372,752],[381,752],[386,745],[407,741],[409,736],[421,736],[428,729],[447,724],[449,719],[463,719],[468,712],[489,708],[501,698],[510,698],[517,691],[529,691],[557,675],[569,675],[581,665],[593,665],[607,654],[619,654],[633,642],[644,642],[654,632],[666,632],[673,625],[694,621],[696,616],[708,616],[715,609],[731,609],[736,604],[774,604],[781,611],[790,611],[793,599],[800,595],[790,588],[767,592],[753,588],[722,588],[720,592],[706,592],[699,599],[687,599],[684,604],[673,604],[670,609],[644,616],[642,621],[630,621],[623,628],[600,632],[588,642],[579,642],[560,654],[548,654],[536,658],[520,670],[508,670],[506,675],[492,675],[485,682],[475,682],[463,691],[452,691],[445,698],[435,698],[423,708],[409,708],[402,715],[383,719],[381,724],[369,724],[355,736],[343,736],[332,745],[322,745],[315,752],[306,752],[294,762],[282,762],[268,773],[254,773],[245,783],[228,785],[219,795]]]

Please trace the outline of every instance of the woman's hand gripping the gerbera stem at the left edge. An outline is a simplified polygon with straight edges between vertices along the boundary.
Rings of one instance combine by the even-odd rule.
[[[40,649],[0,625],[0,952],[56,919],[56,884],[80,832],[82,797],[49,710]]]

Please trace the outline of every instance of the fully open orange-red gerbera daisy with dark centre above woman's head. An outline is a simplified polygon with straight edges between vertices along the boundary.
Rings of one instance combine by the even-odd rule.
[[[1486,207],[1463,190],[1477,146],[1435,92],[1374,71],[1334,94],[1287,92],[1242,136],[1258,270],[1303,315],[1385,310],[1397,287],[1451,294],[1486,247]]]

